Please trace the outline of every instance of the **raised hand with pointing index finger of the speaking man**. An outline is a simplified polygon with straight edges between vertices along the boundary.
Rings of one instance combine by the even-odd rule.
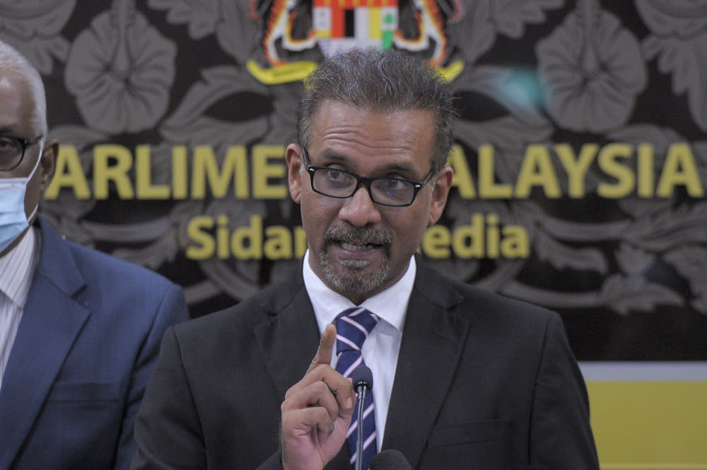
[[[284,470],[319,470],[344,445],[356,394],[349,379],[329,365],[337,328],[329,324],[305,376],[285,394],[281,406]]]

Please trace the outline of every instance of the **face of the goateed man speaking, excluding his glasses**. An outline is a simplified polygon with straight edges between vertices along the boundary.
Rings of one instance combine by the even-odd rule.
[[[312,122],[309,164],[366,177],[422,181],[431,170],[433,115],[426,110],[372,113],[326,101]],[[360,304],[395,284],[407,270],[428,225],[437,222],[452,181],[451,168],[432,178],[407,207],[370,199],[362,185],[337,199],[315,193],[298,145],[287,149],[290,191],[301,205],[312,270],[333,290]]]

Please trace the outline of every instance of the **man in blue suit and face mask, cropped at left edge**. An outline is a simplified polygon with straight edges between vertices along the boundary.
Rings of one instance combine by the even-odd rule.
[[[37,214],[59,143],[37,71],[0,42],[0,470],[126,469],[180,287]]]

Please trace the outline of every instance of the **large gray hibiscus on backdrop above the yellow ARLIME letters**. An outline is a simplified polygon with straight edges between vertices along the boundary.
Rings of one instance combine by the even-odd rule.
[[[80,33],[66,64],[66,88],[86,125],[109,134],[150,129],[167,109],[176,47],[135,10],[115,1]]]

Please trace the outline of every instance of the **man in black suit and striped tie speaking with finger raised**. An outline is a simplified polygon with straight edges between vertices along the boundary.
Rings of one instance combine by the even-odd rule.
[[[345,377],[361,362],[374,405],[360,418],[363,468],[370,449],[397,449],[414,469],[598,469],[559,316],[414,254],[452,184],[454,115],[436,71],[407,55],[354,50],[317,67],[286,150],[303,263],[168,330],[134,469],[349,470],[359,418]]]

